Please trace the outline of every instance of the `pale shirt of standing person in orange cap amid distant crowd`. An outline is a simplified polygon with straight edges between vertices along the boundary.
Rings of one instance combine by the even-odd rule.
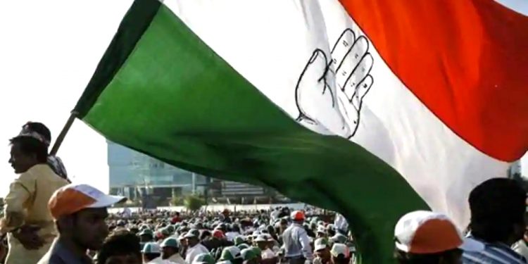
[[[307,260],[313,258],[310,238],[308,237],[308,234],[306,234],[306,230],[304,230],[302,225],[296,223],[290,225],[284,230],[282,241],[284,241],[285,258],[303,257]]]

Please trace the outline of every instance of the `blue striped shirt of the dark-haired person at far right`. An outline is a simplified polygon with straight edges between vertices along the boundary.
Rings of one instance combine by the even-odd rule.
[[[503,243],[486,243],[470,236],[464,244],[471,244],[472,249],[463,246],[463,264],[527,264],[526,258]]]

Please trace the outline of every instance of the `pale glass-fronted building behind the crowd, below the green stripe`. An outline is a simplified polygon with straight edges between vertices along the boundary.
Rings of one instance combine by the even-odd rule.
[[[252,203],[276,196],[275,191],[263,187],[216,180],[175,168],[113,142],[108,142],[108,168],[111,194],[131,200],[149,196],[166,205],[172,197],[198,194],[215,201]]]

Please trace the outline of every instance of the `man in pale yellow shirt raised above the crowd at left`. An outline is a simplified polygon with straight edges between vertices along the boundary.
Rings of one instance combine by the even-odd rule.
[[[19,177],[9,187],[0,220],[0,232],[8,238],[6,264],[37,263],[57,235],[46,205],[68,182],[48,165],[51,133],[38,124],[28,123],[10,140],[9,163]]]

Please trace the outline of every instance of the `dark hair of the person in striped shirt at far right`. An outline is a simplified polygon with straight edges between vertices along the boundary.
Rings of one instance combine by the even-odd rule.
[[[515,180],[486,180],[470,193],[471,234],[488,243],[505,242],[514,225],[524,225],[526,192]]]

